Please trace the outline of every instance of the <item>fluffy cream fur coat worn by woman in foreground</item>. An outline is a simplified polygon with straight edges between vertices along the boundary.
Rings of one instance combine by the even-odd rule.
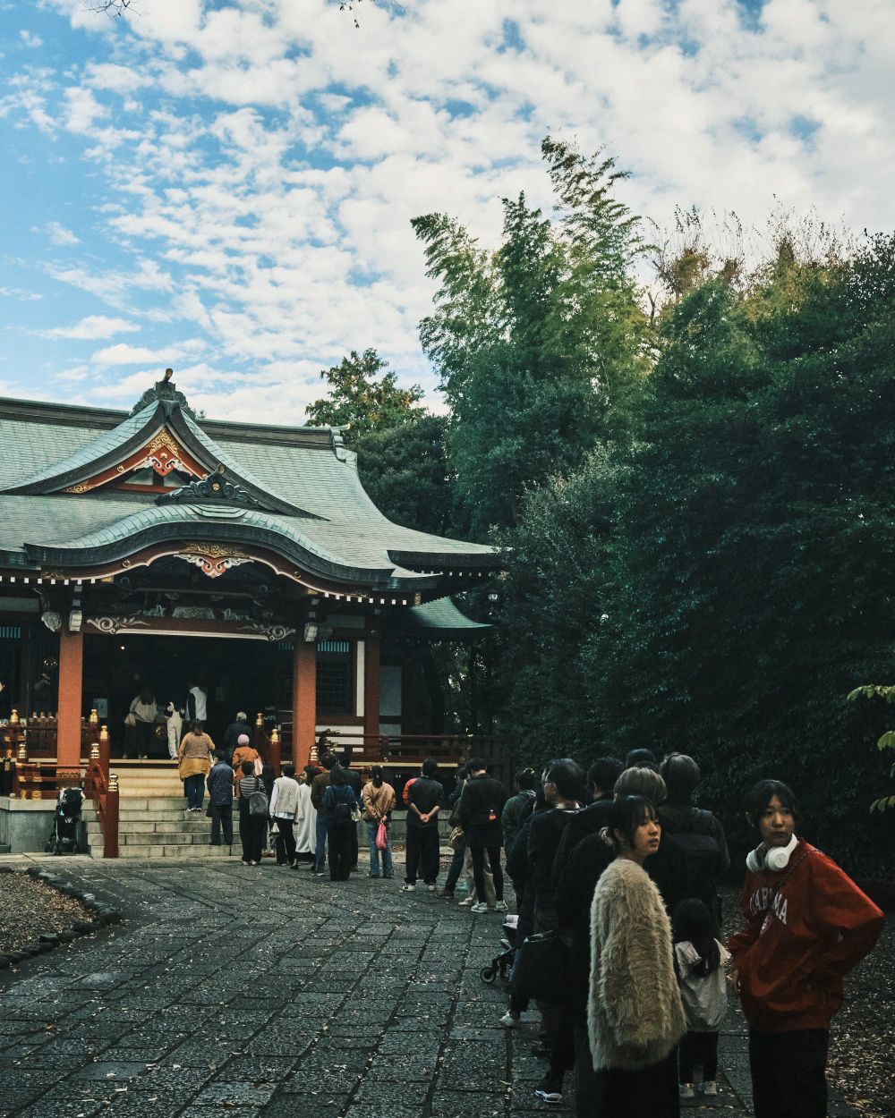
[[[594,891],[587,1031],[597,1071],[658,1063],[687,1031],[668,913],[629,859],[616,858]]]

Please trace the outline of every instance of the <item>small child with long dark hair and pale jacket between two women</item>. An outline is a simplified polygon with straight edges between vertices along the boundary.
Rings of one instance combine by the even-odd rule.
[[[690,898],[675,909],[675,958],[687,1035],[678,1052],[680,1097],[694,1098],[694,1070],[703,1068],[703,1095],[718,1093],[718,1030],[727,1013],[724,968],[731,956],[719,942],[715,918],[700,900]]]

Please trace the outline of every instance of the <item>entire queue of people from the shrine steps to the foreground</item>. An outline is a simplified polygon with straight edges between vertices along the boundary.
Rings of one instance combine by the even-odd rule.
[[[232,840],[235,792],[247,865],[260,863],[273,833],[277,864],[298,869],[303,855],[320,877],[328,856],[330,880],[346,881],[357,869],[362,819],[369,877],[394,875],[396,795],[381,767],[365,783],[326,754],[320,768],[295,774],[284,764],[274,778],[245,737],[237,737],[235,775],[201,723],[180,745],[190,811],[201,809],[207,774],[211,842]],[[436,892],[444,811],[454,858],[442,896],[454,898],[465,871],[470,896],[460,903],[477,916],[507,912],[503,853],[518,912],[517,968],[528,937],[556,934],[564,945],[567,986],[537,1003],[535,1054],[547,1061],[539,1099],[560,1102],[572,1072],[581,1118],[678,1118],[681,1099],[717,1096],[729,987],[750,1025],[756,1118],[823,1118],[830,1021],[846,974],[879,937],[883,913],[797,836],[790,788],[762,780],[748,794],[759,844],[746,862],[743,929],[724,944],[717,887],[731,858],[720,821],[694,803],[700,774],[693,758],[670,754],[659,765],[635,750],[624,765],[600,758],[586,774],[572,758],[556,758],[540,779],[521,771],[514,796],[481,758],[459,769],[449,797],[436,777],[426,760],[404,788],[402,889],[416,891],[420,882]],[[518,1027],[528,1006],[524,983],[515,982],[501,1024]]]

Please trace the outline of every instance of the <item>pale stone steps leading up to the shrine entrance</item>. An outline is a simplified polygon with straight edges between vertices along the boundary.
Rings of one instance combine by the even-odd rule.
[[[113,761],[111,768],[119,778],[119,858],[228,858],[242,853],[238,839],[233,847],[210,844],[211,822],[204,812],[187,812],[173,761]],[[90,800],[84,804],[83,818],[87,853],[102,858],[103,833]],[[235,809],[234,833],[237,830]]]

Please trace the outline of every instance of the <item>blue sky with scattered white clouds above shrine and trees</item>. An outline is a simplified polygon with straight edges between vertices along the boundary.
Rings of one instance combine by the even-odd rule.
[[[409,219],[496,241],[539,142],[624,200],[892,229],[888,0],[0,0],[0,395],[303,421],[376,348],[437,406]],[[508,20],[507,16],[512,19]],[[648,280],[648,277],[647,277]]]

